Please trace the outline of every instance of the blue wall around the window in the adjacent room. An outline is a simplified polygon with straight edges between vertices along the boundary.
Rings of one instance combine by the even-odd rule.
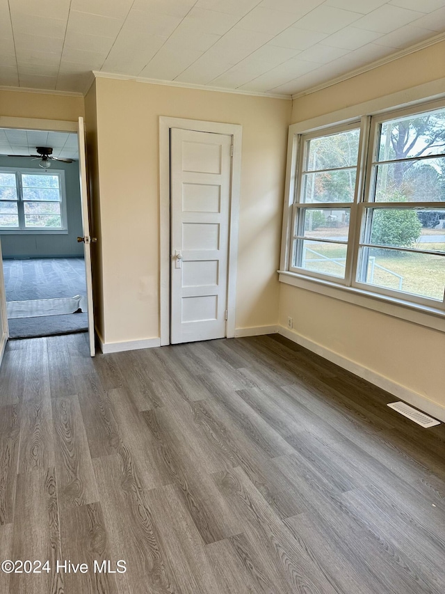
[[[22,167],[23,169],[42,169],[38,161],[0,155],[0,167]],[[81,198],[79,189],[79,162],[52,162],[51,169],[65,171],[67,197],[68,233],[3,234],[0,231],[3,258],[54,258],[56,256],[83,256],[83,244],[77,237],[83,235]],[[51,171],[51,169],[49,171]]]

